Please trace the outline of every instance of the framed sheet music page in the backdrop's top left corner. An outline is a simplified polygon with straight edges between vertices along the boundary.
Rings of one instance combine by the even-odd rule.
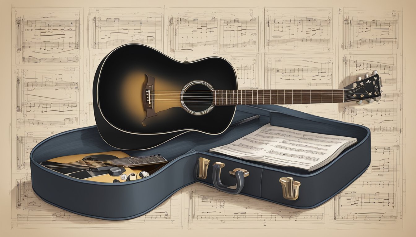
[[[79,10],[30,9],[29,15],[20,16],[17,11],[15,15],[16,64],[79,61]]]

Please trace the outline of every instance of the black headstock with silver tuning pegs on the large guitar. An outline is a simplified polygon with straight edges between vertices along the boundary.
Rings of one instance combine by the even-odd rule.
[[[357,77],[358,81],[344,87],[344,102],[357,100],[361,104],[363,100],[368,103],[379,101],[381,98],[381,78],[377,71],[365,73],[364,78]]]

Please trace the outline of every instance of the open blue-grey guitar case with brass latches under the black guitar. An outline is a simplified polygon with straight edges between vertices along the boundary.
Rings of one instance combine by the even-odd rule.
[[[96,81],[97,78],[94,88]],[[255,115],[259,115],[258,119],[240,123]],[[103,119],[100,116],[96,114],[96,120]],[[268,123],[306,132],[355,137],[358,142],[314,171],[209,152]],[[278,105],[238,105],[231,125],[234,126],[219,135],[187,132],[151,149],[121,150],[130,156],[161,154],[169,161],[149,177],[121,183],[82,180],[42,166],[41,162],[59,156],[117,150],[102,139],[97,126],[59,133],[37,144],[30,153],[33,191],[54,206],[105,220],[144,215],[176,191],[195,182],[230,195],[238,193],[291,208],[308,209],[322,205],[349,186],[366,171],[371,161],[370,131],[361,125]]]

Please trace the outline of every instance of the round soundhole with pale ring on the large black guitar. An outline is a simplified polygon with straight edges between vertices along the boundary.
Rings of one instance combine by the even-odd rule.
[[[181,102],[191,114],[203,115],[213,108],[213,88],[204,81],[193,81],[183,88]]]

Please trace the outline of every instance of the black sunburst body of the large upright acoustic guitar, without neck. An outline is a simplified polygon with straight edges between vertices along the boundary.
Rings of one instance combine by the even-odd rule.
[[[184,132],[222,133],[235,105],[214,107],[211,91],[236,89],[234,68],[225,59],[183,63],[149,46],[126,44],[97,69],[94,114],[110,145],[131,149],[125,142],[140,142],[133,149],[145,149]]]

